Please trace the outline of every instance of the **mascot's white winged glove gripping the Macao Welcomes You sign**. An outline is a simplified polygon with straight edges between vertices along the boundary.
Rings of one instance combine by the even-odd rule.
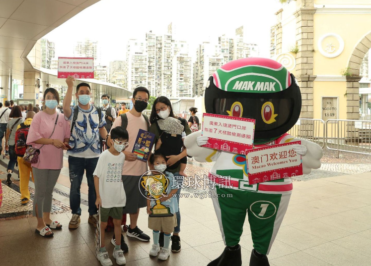
[[[294,141],[301,141],[301,145],[293,145],[293,149],[302,156],[303,174],[308,174],[312,169],[321,167],[323,151],[318,144],[307,140],[294,139]]]

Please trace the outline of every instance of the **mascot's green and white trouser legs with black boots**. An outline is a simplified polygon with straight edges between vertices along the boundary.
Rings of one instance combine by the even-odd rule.
[[[254,244],[250,266],[269,266],[266,255],[276,238],[291,194],[224,188],[212,189],[211,193],[226,248],[222,255],[208,266],[241,266],[241,249],[238,243],[246,214]]]

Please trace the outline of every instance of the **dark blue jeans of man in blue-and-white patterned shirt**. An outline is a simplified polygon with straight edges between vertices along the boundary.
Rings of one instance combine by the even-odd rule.
[[[80,209],[80,187],[82,182],[82,177],[84,175],[84,170],[86,170],[86,179],[88,186],[88,205],[89,205],[89,215],[97,214],[98,210],[95,206],[96,194],[94,187],[94,170],[97,166],[98,157],[96,158],[78,158],[69,156],[68,163],[70,168],[70,208],[72,214],[81,215]]]

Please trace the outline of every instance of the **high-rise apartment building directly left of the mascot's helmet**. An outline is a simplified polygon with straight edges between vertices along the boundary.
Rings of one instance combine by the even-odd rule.
[[[196,61],[193,65],[193,95],[203,96],[209,77],[224,64],[224,55],[221,45],[204,42],[196,52]]]

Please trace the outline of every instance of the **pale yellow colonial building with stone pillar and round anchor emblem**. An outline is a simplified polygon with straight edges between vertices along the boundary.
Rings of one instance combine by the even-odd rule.
[[[371,0],[292,0],[276,15],[271,56],[297,77],[300,117],[359,119],[360,67],[371,48]],[[370,113],[365,101],[371,94],[363,91],[362,111]]]

